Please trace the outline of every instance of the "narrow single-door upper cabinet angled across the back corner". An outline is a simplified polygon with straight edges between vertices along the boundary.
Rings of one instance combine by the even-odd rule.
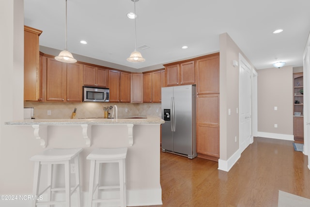
[[[143,102],[143,75],[142,73],[131,74],[131,103]]]

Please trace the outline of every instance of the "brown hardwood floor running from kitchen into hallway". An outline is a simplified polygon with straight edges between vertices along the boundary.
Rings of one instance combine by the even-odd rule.
[[[163,205],[278,207],[279,190],[310,198],[308,157],[292,141],[254,138],[229,172],[201,158],[161,153]]]

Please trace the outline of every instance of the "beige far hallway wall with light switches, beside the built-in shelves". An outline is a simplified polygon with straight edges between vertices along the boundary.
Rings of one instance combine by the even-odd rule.
[[[292,66],[258,70],[258,131],[263,137],[294,139]]]

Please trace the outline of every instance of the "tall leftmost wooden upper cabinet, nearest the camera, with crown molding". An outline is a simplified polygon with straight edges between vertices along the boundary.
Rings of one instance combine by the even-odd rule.
[[[40,93],[39,36],[41,30],[24,26],[24,100],[42,100]]]

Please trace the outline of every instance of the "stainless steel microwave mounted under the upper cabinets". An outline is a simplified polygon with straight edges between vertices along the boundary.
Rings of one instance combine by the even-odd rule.
[[[83,101],[109,102],[109,88],[83,86]]]

